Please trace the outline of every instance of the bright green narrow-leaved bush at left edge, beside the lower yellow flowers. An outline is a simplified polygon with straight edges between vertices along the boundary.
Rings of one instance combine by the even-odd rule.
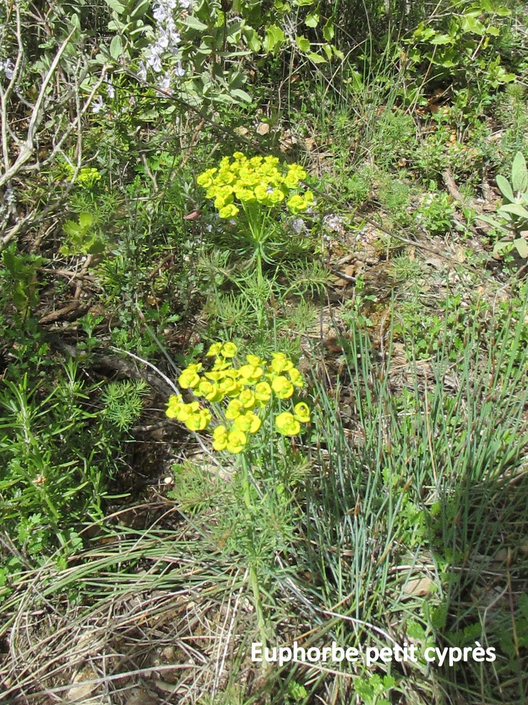
[[[20,556],[32,565],[57,547],[74,551],[82,525],[101,520],[118,453],[142,410],[142,386],[107,384],[97,409],[102,386],[85,384],[72,359],[49,372],[51,380],[26,373],[0,390],[0,520],[16,547],[11,570],[23,567]]]

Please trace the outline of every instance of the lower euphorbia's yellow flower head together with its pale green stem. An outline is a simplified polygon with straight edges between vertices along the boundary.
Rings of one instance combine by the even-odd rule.
[[[297,436],[310,421],[309,406],[294,400],[297,390],[305,386],[302,374],[284,353],[274,353],[266,361],[257,355],[238,360],[234,343],[214,343],[206,357],[212,364],[195,362],[186,367],[178,378],[180,388],[192,399],[181,394],[168,400],[166,415],[185,424],[190,431],[212,429],[212,446],[222,453],[238,458],[245,512],[254,512],[250,484],[253,439],[274,442],[279,437]],[[267,430],[267,435],[265,431]],[[266,644],[266,626],[260,599],[257,567],[249,566],[260,637]]]

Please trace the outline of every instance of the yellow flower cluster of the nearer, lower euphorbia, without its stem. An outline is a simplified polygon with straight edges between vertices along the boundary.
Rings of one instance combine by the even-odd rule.
[[[214,364],[205,369],[202,362],[186,367],[178,378],[183,389],[192,391],[197,399],[216,405],[213,407],[221,423],[213,431],[213,448],[240,453],[247,446],[252,434],[262,425],[274,398],[293,397],[295,388],[302,388],[302,374],[284,353],[274,353],[271,362],[256,355],[246,355],[245,364],[235,365],[237,346],[234,343],[214,343],[207,357],[214,357]],[[198,400],[185,403],[181,395],[168,400],[166,415],[185,424],[190,431],[203,431],[213,418],[209,408]],[[276,416],[275,427],[283,436],[296,436],[301,424],[310,420],[310,410],[305,402],[292,404],[290,411]]]

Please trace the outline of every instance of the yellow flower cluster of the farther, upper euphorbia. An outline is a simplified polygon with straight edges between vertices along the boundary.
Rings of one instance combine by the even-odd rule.
[[[292,213],[305,211],[314,202],[312,191],[292,193],[306,171],[299,164],[285,164],[281,171],[277,157],[252,157],[248,159],[242,152],[233,154],[233,161],[223,157],[218,168],[213,167],[201,173],[197,183],[206,190],[207,198],[214,199],[214,207],[219,209],[221,218],[233,218],[241,204],[259,203],[266,207],[286,200]]]

